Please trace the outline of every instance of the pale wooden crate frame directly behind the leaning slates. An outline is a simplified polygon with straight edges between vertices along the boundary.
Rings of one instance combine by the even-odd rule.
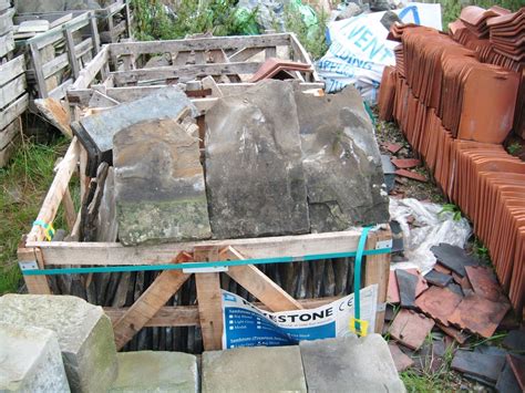
[[[117,102],[127,102],[168,84],[209,75],[218,81],[218,87],[225,94],[229,94],[253,85],[243,82],[239,75],[249,77],[265,59],[282,52],[286,52],[285,60],[312,64],[294,33],[112,43],[82,70],[68,90],[68,101],[87,107],[96,91]],[[145,58],[158,54],[169,58],[171,65],[141,68]],[[311,72],[300,73],[299,77],[303,89],[325,86],[313,66]],[[213,92],[209,93],[212,99],[205,97],[198,105],[213,103]]]

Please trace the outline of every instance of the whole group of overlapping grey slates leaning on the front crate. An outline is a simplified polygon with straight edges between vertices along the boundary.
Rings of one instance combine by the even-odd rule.
[[[171,86],[73,124],[93,177],[82,225],[91,235],[81,240],[127,246],[388,221],[379,147],[356,89],[311,94],[267,80],[217,99],[205,130],[197,115]],[[100,217],[105,188],[114,197]]]

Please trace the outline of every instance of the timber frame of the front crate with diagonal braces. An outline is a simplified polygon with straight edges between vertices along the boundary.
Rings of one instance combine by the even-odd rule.
[[[64,207],[69,230],[74,232],[80,224],[71,200],[69,183],[74,173],[81,176],[83,147],[74,137],[58,166],[56,175],[44,198],[37,220],[52,223],[59,206]],[[89,180],[89,179],[87,179]],[[191,261],[239,260],[253,258],[301,257],[337,252],[352,252],[358,248],[360,230],[326,234],[308,234],[250,239],[203,240],[174,242],[157,246],[124,247],[119,242],[44,241],[40,226],[33,226],[23,237],[18,249],[22,270],[87,266],[152,266]],[[367,249],[385,248],[391,241],[388,226],[380,226],[369,234]],[[378,254],[366,257],[364,286],[377,283],[378,314],[375,331],[381,332],[384,321],[384,302],[390,269],[390,255]],[[320,298],[296,300],[254,265],[228,267],[226,273],[248,290],[270,311],[315,308],[336,300]],[[195,272],[198,306],[165,306],[189,278],[191,273],[164,270],[130,308],[109,308],[106,313],[113,321],[117,348],[123,348],[144,327],[199,325],[205,350],[222,349],[220,280],[218,272]],[[30,293],[49,294],[51,288],[47,276],[24,275]]]

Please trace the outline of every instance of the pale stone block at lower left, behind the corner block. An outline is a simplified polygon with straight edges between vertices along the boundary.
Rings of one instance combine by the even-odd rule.
[[[72,296],[4,294],[0,322],[54,331],[72,391],[103,392],[116,378],[113,329],[102,307]]]

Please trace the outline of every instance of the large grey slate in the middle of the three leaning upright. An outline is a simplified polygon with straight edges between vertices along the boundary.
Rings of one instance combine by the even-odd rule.
[[[264,81],[206,114],[206,188],[217,238],[305,234],[299,123],[290,83]]]

